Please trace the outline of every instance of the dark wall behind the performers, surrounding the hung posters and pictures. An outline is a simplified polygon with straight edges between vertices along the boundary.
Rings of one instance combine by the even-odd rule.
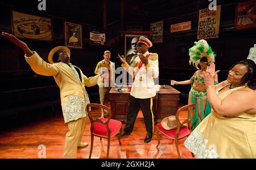
[[[225,80],[230,65],[246,59],[249,49],[255,44],[256,28],[234,29],[237,2],[243,1],[217,1],[217,5],[221,5],[220,35],[219,38],[207,39],[217,53],[216,67],[221,70],[219,81]],[[53,47],[64,45],[64,21],[81,24],[84,48],[71,49],[71,62],[80,67],[86,76],[93,76],[105,50],[112,52],[110,60],[115,67],[119,67],[121,62],[116,56],[124,53],[125,34],[150,31],[150,23],[163,20],[163,43],[150,48],[150,52],[159,55],[159,83],[170,85],[170,79],[187,80],[196,71],[188,63],[188,48],[197,41],[199,10],[208,7],[210,2],[207,0],[55,0],[46,3],[46,11],[39,11],[37,0],[1,1],[0,31],[11,32],[11,10],[51,18],[52,42],[24,40],[47,60]],[[170,33],[171,24],[188,20],[191,20],[191,30]],[[104,46],[89,44],[90,29],[105,30]],[[23,56],[23,51],[0,36],[0,117],[19,119],[24,114],[33,115],[39,108],[55,113],[56,109],[60,109],[60,102],[59,89],[53,77],[32,72]],[[186,103],[190,85],[174,87],[181,92],[180,103]],[[91,101],[99,103],[98,86],[86,90]]]

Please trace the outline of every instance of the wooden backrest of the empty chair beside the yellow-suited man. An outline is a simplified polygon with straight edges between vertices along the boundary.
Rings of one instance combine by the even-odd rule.
[[[100,118],[94,118],[94,117],[92,116],[92,110],[91,110],[92,108],[100,109],[99,114],[101,113],[101,109],[107,110],[107,111],[109,112],[108,121],[103,122],[103,121],[101,121]],[[109,121],[110,121],[110,119],[111,119],[111,115],[112,115],[112,112],[111,112],[111,110],[109,109],[109,107],[106,107],[106,106],[104,106],[104,105],[100,105],[100,104],[98,104],[98,103],[89,103],[89,104],[86,106],[86,111],[87,111],[87,113],[88,113],[88,116],[89,116],[89,119],[90,119],[90,122],[92,123],[92,125],[93,125],[94,122],[98,122],[98,123],[102,123],[102,124],[107,125],[107,124],[109,123]],[[95,113],[96,113],[96,112],[95,112]]]

